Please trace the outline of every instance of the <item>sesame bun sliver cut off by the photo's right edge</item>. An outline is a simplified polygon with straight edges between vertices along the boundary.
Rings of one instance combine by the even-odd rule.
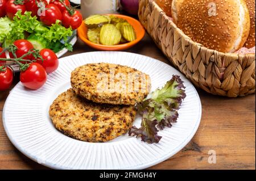
[[[246,5],[250,14],[250,33],[245,42],[246,48],[255,47],[255,1],[254,0],[246,0]]]

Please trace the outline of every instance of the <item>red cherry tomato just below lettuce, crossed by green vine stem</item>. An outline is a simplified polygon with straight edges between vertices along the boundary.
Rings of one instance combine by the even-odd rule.
[[[33,49],[33,45],[27,41],[27,40],[16,40],[13,43],[16,47],[17,50],[15,52],[17,58],[23,56],[23,54],[27,53],[29,50]],[[13,53],[10,53],[10,57],[14,58]],[[34,60],[35,57],[32,56],[32,54],[25,56],[23,59],[25,60]],[[26,63],[26,62],[22,62],[22,63]]]

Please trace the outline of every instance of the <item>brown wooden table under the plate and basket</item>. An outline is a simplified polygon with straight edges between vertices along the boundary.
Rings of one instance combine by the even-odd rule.
[[[80,40],[73,52],[93,49]],[[148,35],[127,50],[170,64]],[[16,75],[13,86],[18,82]],[[12,86],[12,87],[13,87]],[[2,110],[9,91],[0,92],[0,169],[47,169],[20,153],[9,141],[2,125]],[[174,157],[149,169],[255,169],[255,95],[230,99],[199,92],[203,113],[195,136]],[[209,163],[209,151],[216,153],[216,163]]]

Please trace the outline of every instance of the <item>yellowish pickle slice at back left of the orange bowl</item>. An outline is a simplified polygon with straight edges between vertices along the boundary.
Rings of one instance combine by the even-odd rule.
[[[109,23],[109,19],[102,15],[92,15],[85,19],[85,24],[88,28],[101,27],[102,24]]]

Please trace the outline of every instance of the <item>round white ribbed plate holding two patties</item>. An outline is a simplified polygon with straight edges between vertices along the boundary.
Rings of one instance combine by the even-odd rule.
[[[180,75],[187,97],[172,128],[159,131],[159,144],[147,144],[127,134],[105,143],[75,140],[53,127],[48,116],[52,101],[70,86],[71,71],[92,62],[127,65],[151,77],[152,90],[163,86],[172,74]],[[53,169],[144,169],[181,150],[196,133],[201,103],[195,87],[179,71],[150,57],[126,52],[89,52],[60,59],[59,68],[48,75],[39,90],[25,89],[19,82],[3,108],[3,125],[10,141],[27,157]],[[141,117],[134,125],[139,127]]]

